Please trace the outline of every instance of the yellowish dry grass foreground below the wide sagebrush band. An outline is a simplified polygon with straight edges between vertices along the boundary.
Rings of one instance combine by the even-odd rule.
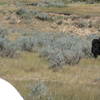
[[[38,54],[24,52],[20,58],[0,58],[0,76],[14,84],[25,100],[32,100],[29,93],[37,80],[47,84],[54,100],[99,100],[95,99],[100,88],[99,66],[99,59],[83,59],[53,72]]]

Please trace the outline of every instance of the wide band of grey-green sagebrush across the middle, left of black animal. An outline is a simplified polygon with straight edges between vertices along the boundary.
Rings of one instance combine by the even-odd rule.
[[[91,42],[99,37],[97,34],[81,37],[74,33],[33,31],[14,41],[0,38],[0,55],[13,57],[17,51],[35,51],[49,61],[50,67],[74,65],[82,58],[92,57]]]

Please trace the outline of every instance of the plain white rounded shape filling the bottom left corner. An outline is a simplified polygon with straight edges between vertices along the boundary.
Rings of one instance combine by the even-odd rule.
[[[9,82],[0,78],[0,100],[24,100]]]

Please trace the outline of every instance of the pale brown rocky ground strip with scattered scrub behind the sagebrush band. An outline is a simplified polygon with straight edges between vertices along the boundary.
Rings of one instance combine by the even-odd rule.
[[[12,11],[12,8],[16,10]],[[53,19],[38,19],[38,17],[31,15],[30,9],[23,7],[16,7],[12,5],[8,7],[10,10],[1,11],[0,22],[1,26],[7,27],[13,30],[38,30],[42,32],[66,32],[74,33],[78,35],[89,35],[89,34],[99,34],[100,33],[100,17],[99,16],[79,16],[75,14],[64,15],[57,13],[45,13],[40,17],[50,17]],[[22,16],[17,15],[16,12],[19,9],[26,10],[25,16],[27,18],[22,18]],[[28,11],[29,10],[29,11]],[[11,12],[12,11],[12,12]],[[31,11],[35,11],[34,9]],[[29,12],[29,13],[27,13]]]

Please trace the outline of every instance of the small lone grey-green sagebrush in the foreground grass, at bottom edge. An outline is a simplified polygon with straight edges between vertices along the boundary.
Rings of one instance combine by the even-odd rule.
[[[48,89],[48,86],[44,81],[40,80],[32,86],[30,96],[33,98],[32,100],[54,100],[51,95],[51,91]]]

